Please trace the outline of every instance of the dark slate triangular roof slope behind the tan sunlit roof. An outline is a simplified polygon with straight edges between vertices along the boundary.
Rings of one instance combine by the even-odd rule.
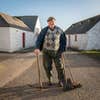
[[[16,16],[22,20],[33,32],[38,19],[38,16]]]

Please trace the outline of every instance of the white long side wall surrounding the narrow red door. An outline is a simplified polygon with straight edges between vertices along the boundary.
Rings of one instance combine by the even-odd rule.
[[[29,48],[34,45],[33,32],[24,31],[24,30],[16,29],[16,28],[10,28],[11,52],[24,49],[23,44],[22,44],[23,32],[25,33],[25,48]]]

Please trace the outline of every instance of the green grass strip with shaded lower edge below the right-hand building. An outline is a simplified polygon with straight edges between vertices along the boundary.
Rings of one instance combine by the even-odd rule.
[[[100,61],[100,50],[80,51],[80,53]]]

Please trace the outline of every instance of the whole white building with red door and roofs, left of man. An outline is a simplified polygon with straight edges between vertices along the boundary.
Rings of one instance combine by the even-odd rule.
[[[14,52],[33,47],[40,31],[38,16],[17,18],[0,13],[0,51]]]

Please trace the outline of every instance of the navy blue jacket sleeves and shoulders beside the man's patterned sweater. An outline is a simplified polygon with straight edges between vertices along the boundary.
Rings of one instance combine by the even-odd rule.
[[[44,43],[44,39],[45,39],[45,35],[47,33],[47,30],[48,30],[48,26],[43,28],[37,38],[37,41],[36,41],[36,48],[39,49],[39,50],[42,50],[43,49],[43,43]],[[57,28],[58,30],[60,30],[60,46],[59,46],[59,49],[58,49],[58,52],[64,52],[66,50],[66,36],[65,36],[65,33],[57,26],[55,26],[55,28]]]

